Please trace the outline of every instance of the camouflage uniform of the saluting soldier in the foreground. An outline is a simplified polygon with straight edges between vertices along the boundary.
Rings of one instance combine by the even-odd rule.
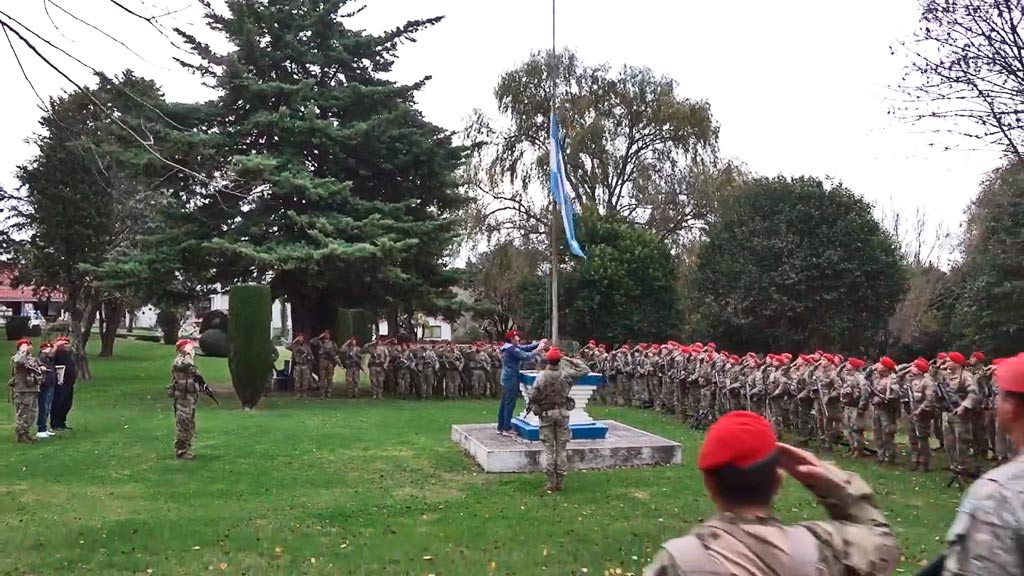
[[[787,527],[771,517],[720,515],[666,542],[644,576],[892,574],[899,547],[870,487],[853,472],[824,466],[843,479],[835,492],[815,494],[834,520]]]

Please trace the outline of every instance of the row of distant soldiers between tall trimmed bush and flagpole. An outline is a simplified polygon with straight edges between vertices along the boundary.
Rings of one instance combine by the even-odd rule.
[[[310,338],[302,334],[286,346],[292,353],[295,392],[305,397],[312,390],[330,398],[336,367],[345,371],[348,396],[358,394],[359,374],[369,369],[374,398],[495,398],[501,390],[501,353],[496,345],[452,343],[398,343],[377,340],[360,347],[350,338],[341,346],[330,332]]]

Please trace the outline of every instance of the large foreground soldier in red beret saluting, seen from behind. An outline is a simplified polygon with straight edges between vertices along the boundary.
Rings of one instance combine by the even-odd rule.
[[[718,513],[663,544],[645,576],[895,571],[899,547],[870,487],[810,452],[778,444],[765,418],[744,411],[719,418],[705,437],[697,467]],[[783,525],[772,501],[784,476],[814,494],[834,520]]]

